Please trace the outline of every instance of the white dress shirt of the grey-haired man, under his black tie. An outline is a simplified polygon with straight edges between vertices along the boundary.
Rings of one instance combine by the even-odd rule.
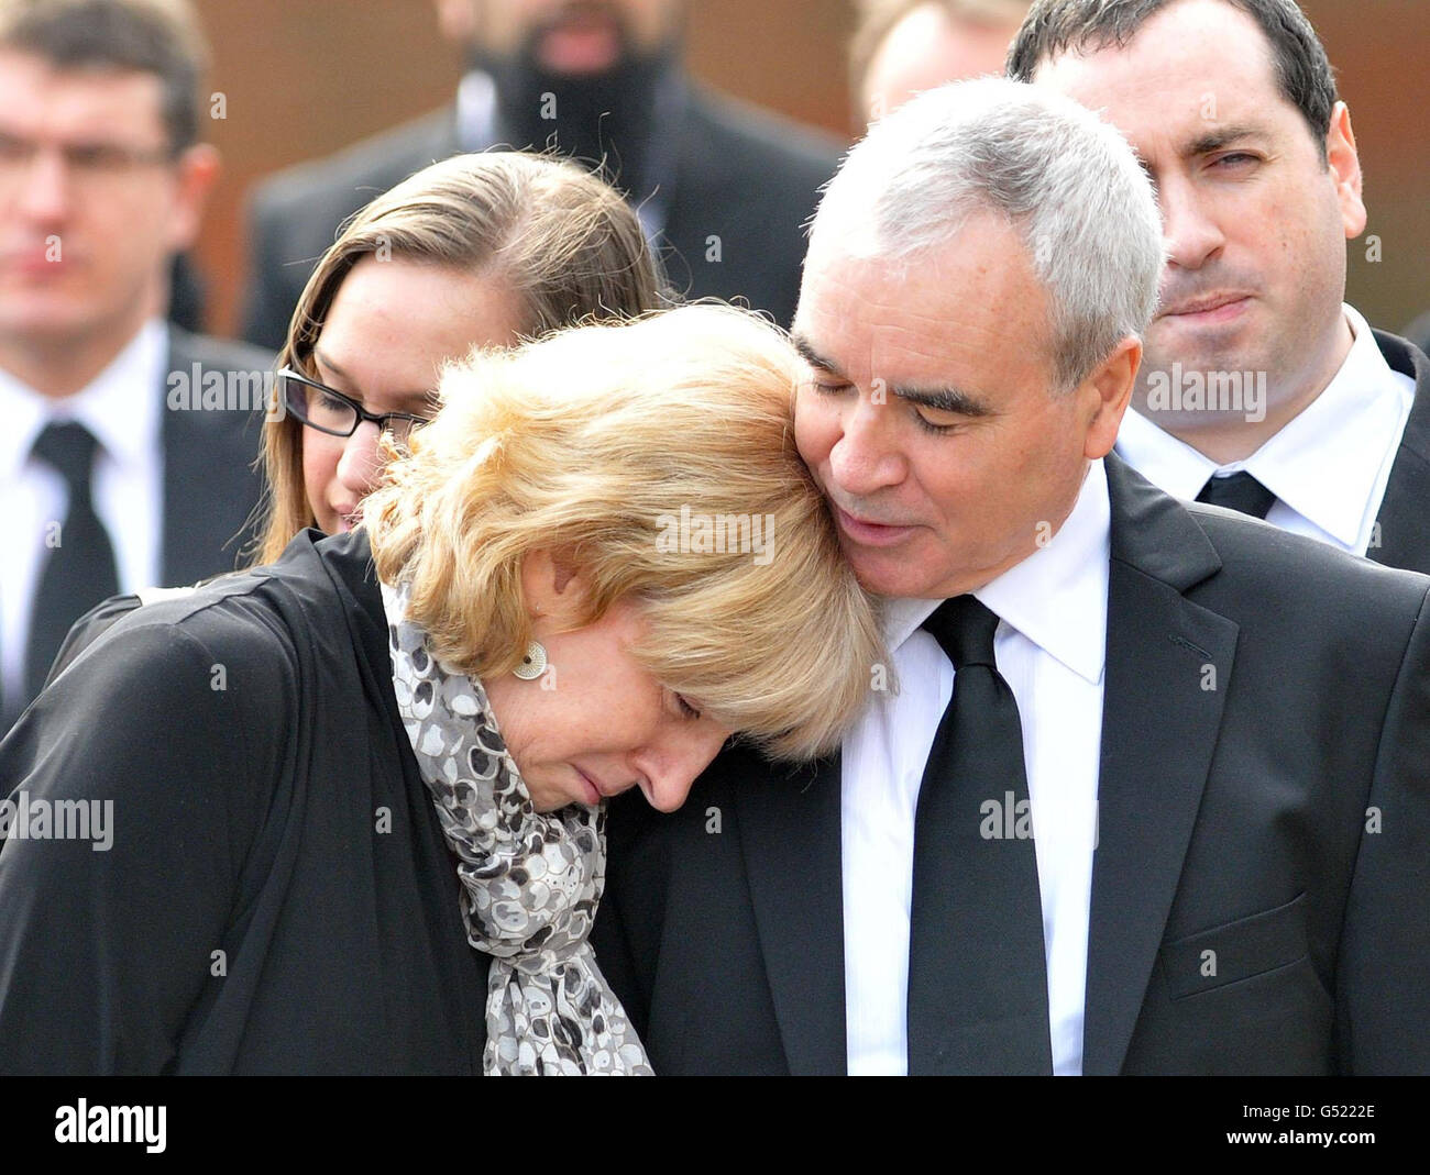
[[[1097,846],[1111,512],[1103,462],[1047,546],[974,595],[1000,618],[998,672],[1022,722],[1032,806],[1052,1071],[1083,1069],[1088,911]],[[844,740],[844,968],[851,1074],[908,1072],[914,815],[954,692],[954,666],[919,625],[940,600],[894,600],[885,639],[898,692]],[[957,992],[948,993],[957,999]]]

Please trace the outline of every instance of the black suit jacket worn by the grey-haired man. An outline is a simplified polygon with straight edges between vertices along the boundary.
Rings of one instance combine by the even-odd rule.
[[[1430,579],[1107,472],[1084,1072],[1430,1071]],[[845,1071],[839,793],[734,750],[613,805],[595,941],[658,1074]]]

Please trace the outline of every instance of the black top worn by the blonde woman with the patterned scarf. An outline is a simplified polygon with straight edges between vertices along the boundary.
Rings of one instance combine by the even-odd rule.
[[[0,742],[0,779],[113,805],[100,852],[0,849],[0,1072],[482,1072],[488,956],[362,532],[116,623]]]

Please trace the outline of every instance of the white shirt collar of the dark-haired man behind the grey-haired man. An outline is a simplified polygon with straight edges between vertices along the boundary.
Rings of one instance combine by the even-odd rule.
[[[1350,306],[1344,310],[1356,342],[1341,369],[1246,460],[1218,466],[1131,410],[1123,419],[1117,455],[1148,482],[1183,499],[1194,499],[1214,475],[1246,470],[1276,495],[1268,523],[1366,555],[1416,382],[1391,370],[1366,319]]]

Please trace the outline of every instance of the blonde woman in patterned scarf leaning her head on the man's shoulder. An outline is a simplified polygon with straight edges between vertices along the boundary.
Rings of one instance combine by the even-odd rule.
[[[473,355],[362,526],[112,628],[0,748],[113,805],[0,852],[0,1069],[646,1072],[605,800],[835,746],[879,660],[799,377],[716,306]]]

